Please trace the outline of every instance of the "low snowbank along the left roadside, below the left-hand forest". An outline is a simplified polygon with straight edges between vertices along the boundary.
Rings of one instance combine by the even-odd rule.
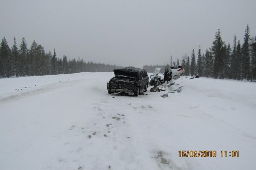
[[[109,73],[105,74],[109,75]],[[59,88],[68,83],[99,80],[98,75],[97,73],[77,73],[0,79],[0,102]]]

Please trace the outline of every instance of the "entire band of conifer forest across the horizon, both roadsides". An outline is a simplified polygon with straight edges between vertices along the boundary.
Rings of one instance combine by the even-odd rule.
[[[148,72],[153,72],[156,67],[165,67],[181,65],[185,69],[186,76],[211,77],[215,79],[236,79],[247,81],[256,80],[256,37],[250,38],[250,28],[244,33],[244,42],[241,45],[240,40],[234,36],[233,46],[226,44],[221,38],[221,32],[215,33],[215,40],[212,46],[206,49],[202,54],[199,45],[197,59],[195,50],[192,50],[191,57],[183,56],[182,59],[172,61],[167,65],[144,65]],[[69,59],[64,55],[62,58],[56,56],[54,49],[46,53],[42,45],[38,45],[35,40],[30,48],[27,48],[25,38],[22,38],[20,45],[16,43],[12,48],[4,37],[0,45],[0,78],[4,77],[25,77],[40,76],[52,74],[71,74],[79,72],[102,72],[113,71],[116,68],[123,68],[116,65],[85,62],[83,59]]]

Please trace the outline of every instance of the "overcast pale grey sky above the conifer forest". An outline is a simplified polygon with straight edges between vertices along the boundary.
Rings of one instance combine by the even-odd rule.
[[[122,66],[203,53],[221,30],[230,45],[256,36],[256,0],[0,0],[0,38],[68,58]]]

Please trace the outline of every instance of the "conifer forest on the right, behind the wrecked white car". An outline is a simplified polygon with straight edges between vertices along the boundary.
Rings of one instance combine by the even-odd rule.
[[[181,63],[180,63],[181,61]],[[169,67],[181,65],[185,69],[186,76],[211,77],[215,79],[243,79],[256,80],[256,37],[250,38],[250,28],[247,25],[244,33],[244,42],[241,44],[234,36],[233,46],[226,44],[221,38],[221,31],[215,33],[212,46],[202,54],[201,46],[195,58],[195,50],[191,57],[184,56],[182,59],[172,61],[170,65],[144,65],[148,72],[153,72],[156,67]]]

